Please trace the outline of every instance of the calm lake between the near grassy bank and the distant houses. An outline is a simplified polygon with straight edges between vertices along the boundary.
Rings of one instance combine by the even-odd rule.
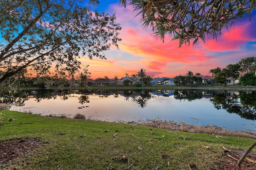
[[[153,119],[194,125],[216,125],[256,133],[256,92],[203,90],[92,90],[65,94],[26,91],[11,110],[114,122]]]

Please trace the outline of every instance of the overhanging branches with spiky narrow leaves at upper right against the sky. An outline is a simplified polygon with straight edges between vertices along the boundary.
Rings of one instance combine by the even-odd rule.
[[[126,6],[126,0],[119,0]],[[234,21],[256,9],[255,0],[130,0],[134,11],[141,15],[144,27],[164,40],[164,35],[183,43],[205,41],[205,36],[217,38],[223,27],[229,29]]]

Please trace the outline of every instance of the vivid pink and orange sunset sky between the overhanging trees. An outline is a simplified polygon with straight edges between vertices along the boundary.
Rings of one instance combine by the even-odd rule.
[[[178,41],[166,36],[164,43],[145,29],[140,22],[140,16],[133,12],[132,6],[120,6],[118,0],[100,0],[97,6],[99,12],[116,13],[116,22],[120,23],[121,42],[119,49],[112,47],[105,52],[107,60],[94,57],[82,57],[80,61],[89,65],[91,78],[122,78],[125,73],[129,76],[136,74],[141,68],[146,74],[156,77],[174,78],[184,75],[188,71],[209,75],[210,69],[225,68],[228,64],[236,64],[243,58],[255,56],[256,52],[256,14],[252,20],[243,18],[237,20],[235,27],[229,31],[225,28],[216,39],[209,39],[205,43],[200,41],[196,45],[178,46]],[[191,43],[192,44],[192,43]]]

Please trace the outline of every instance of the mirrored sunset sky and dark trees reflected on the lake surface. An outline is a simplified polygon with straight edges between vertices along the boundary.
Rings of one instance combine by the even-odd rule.
[[[36,107],[35,109],[43,112],[42,115],[49,114],[50,110],[56,112],[53,109],[63,107],[58,108],[58,111],[62,112],[61,109],[63,109],[68,113],[76,114],[79,109],[84,114],[94,113],[105,117],[110,115],[122,118],[144,117],[145,119],[163,117],[188,122],[193,119],[200,125],[203,120],[206,125],[213,120],[214,122],[211,124],[224,121],[223,117],[228,117],[226,113],[236,113],[240,119],[256,120],[256,92],[245,91],[138,89],[92,90],[74,94],[66,91],[30,90],[19,92],[10,98],[0,98],[0,100],[0,102],[16,104],[22,108]],[[35,103],[32,103],[31,100]],[[28,102],[31,103],[31,106],[28,106]],[[58,106],[58,102],[60,102],[60,106]],[[47,106],[49,110],[43,111],[40,105]],[[238,118],[234,119],[240,121]]]

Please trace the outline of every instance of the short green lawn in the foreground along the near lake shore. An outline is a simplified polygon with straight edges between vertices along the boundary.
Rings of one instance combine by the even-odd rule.
[[[186,170],[189,163],[196,164],[198,170],[211,170],[222,158],[222,146],[248,149],[255,141],[226,136],[220,140],[214,135],[42,117],[17,111],[8,111],[6,117],[17,119],[1,127],[0,143],[23,138],[38,138],[44,142],[29,153],[30,156],[14,161],[18,169],[26,170],[107,170],[110,166],[123,169],[131,164],[130,170],[152,170],[161,164],[160,169]],[[170,158],[164,159],[161,154],[168,154]],[[128,159],[121,159],[122,156]],[[6,165],[0,165],[0,168],[6,168]]]

